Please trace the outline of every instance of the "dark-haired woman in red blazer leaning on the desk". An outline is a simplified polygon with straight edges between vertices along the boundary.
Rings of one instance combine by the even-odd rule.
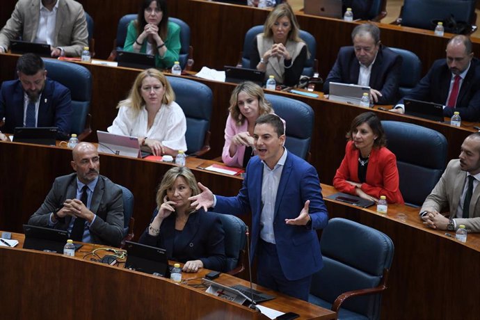
[[[346,137],[349,142],[333,178],[333,186],[360,198],[378,201],[385,195],[387,202],[403,204],[397,157],[385,147],[385,134],[376,114],[358,115]]]

